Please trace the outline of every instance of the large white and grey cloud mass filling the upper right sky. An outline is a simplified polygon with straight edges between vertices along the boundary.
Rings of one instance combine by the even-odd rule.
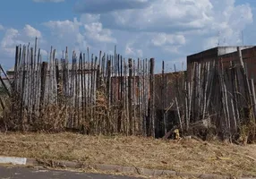
[[[252,24],[253,14],[250,4],[235,0],[158,0],[140,10],[101,14],[100,20],[107,28],[137,34],[123,40],[126,54],[141,49],[149,56],[179,58],[217,47],[218,41],[221,46],[242,45],[241,31]],[[131,41],[132,47],[127,45]]]

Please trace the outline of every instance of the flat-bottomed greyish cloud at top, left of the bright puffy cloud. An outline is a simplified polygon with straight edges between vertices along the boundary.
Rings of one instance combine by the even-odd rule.
[[[209,0],[158,0],[144,9],[112,13],[115,26],[146,31],[205,28],[212,21]]]

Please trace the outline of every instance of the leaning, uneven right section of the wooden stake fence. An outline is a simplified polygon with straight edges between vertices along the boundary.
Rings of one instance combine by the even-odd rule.
[[[240,48],[229,61],[195,62],[186,72],[165,73],[163,62],[156,77],[158,130],[166,135],[176,125],[184,133],[205,130],[204,137],[213,132],[223,139],[244,135],[255,140],[255,83],[253,72],[248,73]],[[172,117],[170,112],[175,112]]]

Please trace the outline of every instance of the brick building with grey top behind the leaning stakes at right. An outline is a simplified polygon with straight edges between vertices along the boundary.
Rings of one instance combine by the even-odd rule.
[[[243,63],[246,68],[248,78],[254,79],[254,86],[256,85],[256,47],[241,47],[242,49],[242,56],[243,56]],[[223,67],[224,75],[223,79],[226,81],[226,90],[227,93],[227,100],[228,100],[228,109],[232,111],[232,104],[231,99],[234,98],[232,94],[234,94],[234,75],[232,72],[237,72],[237,79],[239,84],[239,95],[238,97],[245,97],[246,89],[244,88],[244,81],[242,71],[239,68],[231,68],[231,65],[240,65],[239,55],[237,52],[237,47],[216,47],[209,49],[207,51],[203,51],[199,54],[187,56],[187,66],[188,66],[188,76],[192,75],[192,67],[194,63],[197,64],[204,64],[206,62],[218,62],[215,65],[219,65],[218,67]],[[211,67],[212,69],[213,66]],[[233,71],[234,69],[234,71]],[[234,73],[233,73],[234,74]],[[214,99],[213,99],[213,108],[217,108],[219,106],[218,100],[221,98],[221,90],[219,83],[215,83],[214,88],[216,90],[214,92]],[[242,110],[243,107],[246,107],[247,101],[246,98],[239,99],[239,110]],[[245,114],[244,114],[245,115]],[[233,115],[232,115],[233,116]],[[232,117],[230,115],[230,117]],[[235,121],[235,120],[232,120]],[[231,126],[235,129],[235,124],[231,124]]]

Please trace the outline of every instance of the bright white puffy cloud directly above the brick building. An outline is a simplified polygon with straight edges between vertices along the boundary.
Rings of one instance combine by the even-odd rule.
[[[215,34],[204,40],[207,47],[242,45],[241,32],[253,22],[252,8],[249,4],[235,6],[235,0],[224,0],[214,4],[215,21],[208,27]]]

